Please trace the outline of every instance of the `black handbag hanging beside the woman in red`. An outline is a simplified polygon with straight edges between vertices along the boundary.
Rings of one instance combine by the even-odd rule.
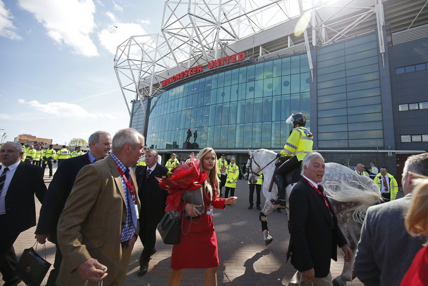
[[[181,224],[178,211],[166,212],[161,222],[157,225],[157,231],[161,234],[165,244],[179,244]]]

